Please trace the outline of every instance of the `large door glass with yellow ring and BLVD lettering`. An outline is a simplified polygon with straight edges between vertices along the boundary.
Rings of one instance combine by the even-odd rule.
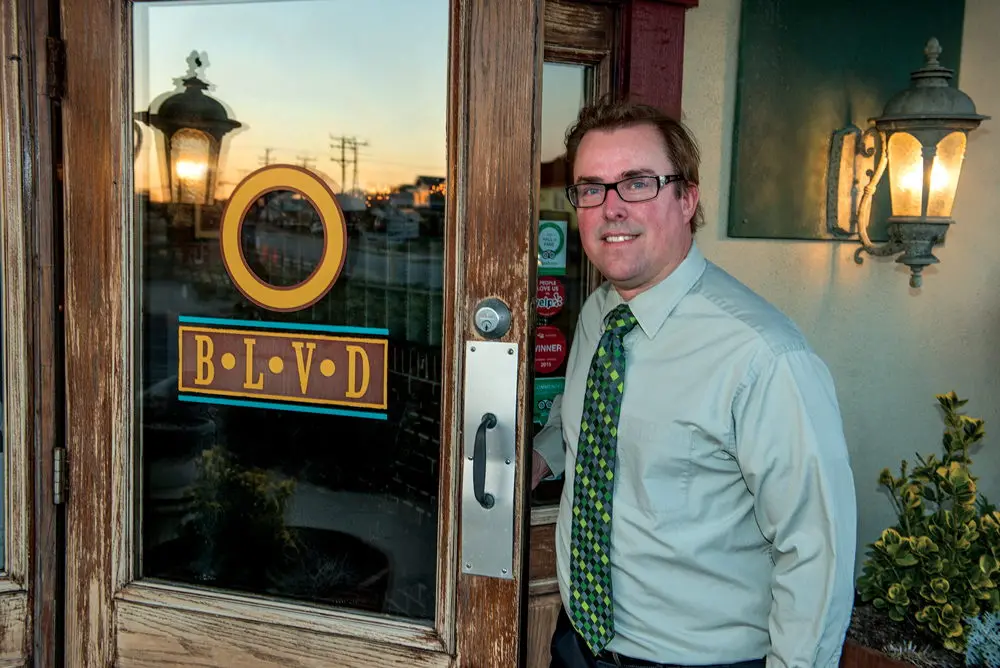
[[[142,577],[434,618],[448,22],[134,5]]]

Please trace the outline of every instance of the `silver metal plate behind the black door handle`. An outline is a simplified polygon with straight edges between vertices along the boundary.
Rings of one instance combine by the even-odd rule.
[[[514,567],[514,443],[517,435],[515,344],[465,344],[465,413],[462,421],[462,572],[512,579]],[[486,486],[492,508],[476,500],[473,454],[483,415],[496,416],[486,432]]]

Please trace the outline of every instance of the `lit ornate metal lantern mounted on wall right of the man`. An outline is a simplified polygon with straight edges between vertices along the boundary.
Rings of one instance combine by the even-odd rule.
[[[944,241],[948,226],[955,222],[951,209],[968,133],[989,119],[976,113],[976,105],[968,95],[949,85],[954,71],[938,62],[941,45],[937,39],[927,42],[924,55],[927,61],[911,75],[910,87],[889,100],[882,115],[871,119],[874,127],[868,128],[854,144],[857,153],[864,157],[872,157],[876,150],[879,154],[874,170],[868,172],[870,178],[857,211],[851,212],[854,229],[844,230],[839,223],[832,223],[837,236],[853,236],[856,230],[861,241],[861,247],[854,253],[858,264],[864,262],[863,253],[873,256],[902,253],[896,262],[910,268],[910,286],[914,288],[921,285],[924,267],[938,262],[934,246]],[[838,131],[841,136],[844,133]],[[868,136],[872,139],[871,146],[864,142]],[[828,171],[831,175],[841,169],[836,137],[834,143]],[[876,245],[869,237],[868,225],[872,198],[886,169],[892,206],[887,221],[889,239]]]

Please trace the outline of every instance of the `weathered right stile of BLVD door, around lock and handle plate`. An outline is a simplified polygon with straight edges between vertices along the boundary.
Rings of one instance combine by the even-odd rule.
[[[535,281],[533,225],[537,213],[538,133],[541,68],[541,0],[472,3],[468,20],[478,35],[468,48],[474,54],[467,78],[459,85],[473,112],[459,142],[466,147],[464,313],[456,314],[462,339],[476,340],[470,317],[487,297],[499,297],[511,311],[505,343],[518,346],[517,464],[514,488],[523,490],[531,470],[530,414],[526,400],[531,359],[528,286]],[[533,30],[489,26],[533,26]],[[532,76],[525,77],[524,72]],[[464,346],[463,346],[464,347]],[[460,439],[459,443],[462,442]],[[471,481],[465,481],[469,484]],[[522,573],[526,560],[528,508],[523,494],[514,500],[514,563],[509,580],[463,574],[459,578],[460,665],[514,666],[521,652]],[[492,629],[484,633],[482,629]]]

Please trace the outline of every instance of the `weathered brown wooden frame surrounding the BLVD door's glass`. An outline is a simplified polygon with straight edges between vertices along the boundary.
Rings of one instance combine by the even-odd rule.
[[[188,629],[202,624],[220,634],[236,627],[258,632],[266,628],[274,631],[275,643],[299,637],[287,628],[266,625],[277,619],[302,629],[295,633],[311,634],[317,655],[348,656],[358,636],[347,634],[359,630],[361,638],[378,634],[405,642],[386,646],[386,651],[413,665],[441,665],[434,657],[447,659],[447,655],[454,657],[452,663],[463,666],[515,665],[523,654],[519,631],[526,587],[519,575],[527,536],[526,499],[515,501],[515,516],[521,521],[514,527],[514,573],[518,577],[513,580],[460,572],[460,522],[447,512],[458,508],[462,483],[454,454],[463,436],[459,351],[464,350],[464,341],[477,338],[466,314],[484,297],[504,299],[512,311],[512,327],[504,341],[517,344],[522,351],[528,346],[534,235],[532,225],[508,221],[529,222],[537,213],[540,30],[483,32],[479,26],[502,25],[501,21],[539,26],[542,0],[519,0],[504,3],[502,8],[500,4],[462,0],[453,10],[452,53],[456,57],[451,59],[449,72],[448,180],[455,187],[447,195],[446,229],[457,241],[448,248],[445,265],[452,271],[445,277],[444,313],[445,377],[451,382],[442,397],[442,411],[447,421],[443,435],[454,447],[442,452],[440,463],[440,498],[448,499],[439,518],[441,603],[436,627],[415,638],[409,626],[391,621],[354,620],[336,627],[330,616],[293,611],[293,606],[280,602],[241,604],[238,596],[207,597],[190,588],[185,593],[183,587],[133,582],[128,549],[134,540],[133,351],[125,336],[130,331],[134,296],[134,255],[129,244],[135,238],[127,229],[133,191],[131,124],[126,116],[131,98],[127,76],[131,70],[130,13],[121,0],[63,0],[68,66],[64,146],[94,147],[92,151],[67,149],[63,155],[65,219],[71,221],[64,235],[66,433],[71,459],[63,636],[67,665],[127,664],[140,658],[144,639],[154,637],[158,626],[170,624]],[[66,26],[72,26],[73,32]],[[525,77],[525,71],[534,71],[536,76]],[[495,103],[497,91],[504,92],[502,104]],[[470,109],[476,110],[474,115]],[[523,124],[524,118],[532,117],[532,110],[534,132]],[[504,141],[497,141],[498,136],[504,136]],[[459,220],[464,221],[461,227]],[[125,221],[125,231],[108,221]],[[512,233],[512,227],[522,233]],[[462,234],[455,235],[456,230]],[[487,252],[500,252],[521,270],[510,271],[507,261],[468,261],[486,257]],[[464,281],[459,278],[462,272],[466,272]],[[455,305],[460,305],[460,312]],[[523,416],[530,415],[523,406],[529,360],[527,353],[519,357]],[[529,420],[524,417],[518,425],[516,489],[525,487]],[[448,564],[453,579],[441,577],[446,572],[442,564]],[[451,620],[456,618],[469,623],[458,624],[452,633]],[[324,635],[331,627],[345,635]],[[476,627],[489,633],[477,633]]]

